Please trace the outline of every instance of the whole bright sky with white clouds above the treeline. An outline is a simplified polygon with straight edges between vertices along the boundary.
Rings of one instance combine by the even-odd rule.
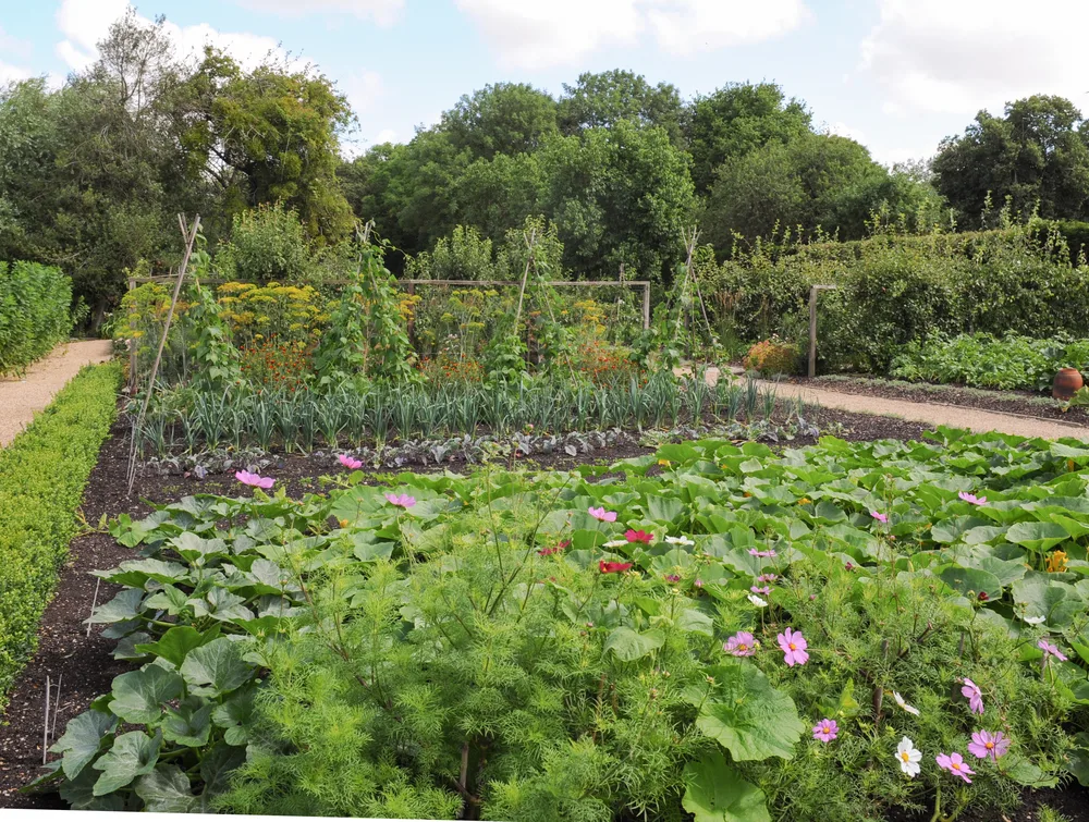
[[[0,0],[0,83],[59,83],[126,0]],[[182,50],[316,63],[359,118],[358,150],[412,137],[488,83],[559,95],[628,69],[685,98],[775,81],[881,162],[921,159],[980,109],[1059,94],[1089,109],[1089,0],[142,0]]]

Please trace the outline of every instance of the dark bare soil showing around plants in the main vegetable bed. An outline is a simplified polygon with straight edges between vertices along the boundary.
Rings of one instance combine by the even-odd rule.
[[[917,422],[848,414],[830,408],[811,409],[809,421],[816,424],[822,433],[855,441],[884,438],[921,439],[927,431],[926,426]],[[812,444],[813,441],[812,437],[804,437],[780,444],[799,447]],[[638,446],[625,446],[578,457],[553,455],[539,459],[518,459],[516,464],[563,469],[589,462],[610,463],[650,451]],[[212,475],[204,480],[195,477],[139,476],[136,479],[134,493],[130,496],[126,494],[126,467],[127,446],[124,431],[120,427],[114,427],[110,438],[102,445],[98,465],[91,471],[84,492],[82,512],[88,528],[72,541],[69,562],[61,569],[56,596],[42,617],[37,652],[16,680],[10,694],[7,714],[0,723],[0,808],[65,807],[57,795],[19,793],[21,786],[37,775],[41,765],[46,676],[48,675],[53,683],[61,683],[57,734],[50,739],[53,741],[63,733],[64,725],[70,719],[86,710],[95,697],[110,689],[113,677],[131,667],[124,662],[113,660],[111,652],[114,643],[112,640],[103,639],[98,627],[91,629],[88,638],[84,622],[90,612],[95,594],[96,579],[90,576],[90,572],[112,568],[133,556],[131,549],[118,545],[108,532],[97,529],[99,519],[103,515],[111,518],[120,514],[130,514],[134,518],[146,516],[151,508],[145,500],[164,503],[180,500],[187,494],[236,493],[238,489],[230,475]],[[442,469],[455,471],[465,468],[464,464],[442,466]],[[281,455],[277,458],[276,465],[266,473],[274,476],[278,487],[285,488],[290,495],[301,496],[320,491],[322,486],[318,478],[340,470],[329,456],[317,458]],[[429,466],[416,467],[414,470],[439,469]],[[371,481],[379,480],[380,477],[376,476]],[[114,586],[102,584],[98,591],[98,601],[108,601],[115,592]],[[1064,806],[1062,802],[1067,799],[1069,806]],[[1089,810],[1080,810],[1084,799],[1080,793],[1075,796],[1070,792],[1060,792],[1047,801],[1052,807],[1063,809],[1074,820],[1089,822]],[[1016,819],[1035,820],[1036,815]]]

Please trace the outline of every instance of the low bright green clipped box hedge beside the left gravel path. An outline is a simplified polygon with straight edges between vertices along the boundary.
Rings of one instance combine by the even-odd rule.
[[[84,368],[0,450],[0,710],[34,653],[75,510],[117,409],[117,364]]]

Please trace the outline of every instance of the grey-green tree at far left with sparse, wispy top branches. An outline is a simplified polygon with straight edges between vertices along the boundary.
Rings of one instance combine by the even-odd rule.
[[[130,12],[60,90],[32,79],[0,95],[0,258],[60,266],[96,323],[125,268],[176,245],[184,181],[167,126],[182,72],[162,20]]]

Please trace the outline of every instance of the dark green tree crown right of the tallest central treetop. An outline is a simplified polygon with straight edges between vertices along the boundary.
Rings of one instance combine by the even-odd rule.
[[[718,168],[771,140],[790,143],[811,134],[811,115],[803,101],[786,100],[774,83],[737,83],[697,97],[685,118],[696,191],[706,194]]]

